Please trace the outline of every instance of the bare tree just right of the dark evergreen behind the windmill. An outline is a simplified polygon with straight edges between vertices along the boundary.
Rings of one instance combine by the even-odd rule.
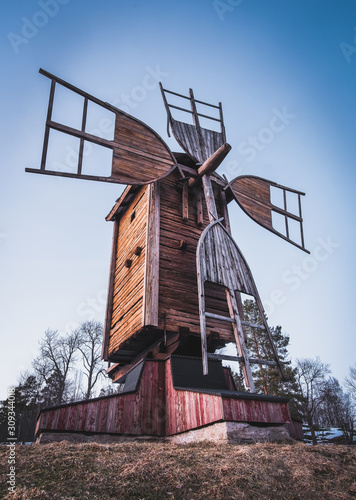
[[[330,368],[328,364],[322,363],[319,357],[297,359],[296,364],[298,384],[303,395],[302,408],[305,422],[310,429],[313,444],[317,444],[315,428],[319,409],[325,399],[323,388]]]

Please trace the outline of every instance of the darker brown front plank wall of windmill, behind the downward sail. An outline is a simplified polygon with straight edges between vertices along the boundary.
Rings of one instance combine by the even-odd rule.
[[[160,269],[159,269],[159,328],[166,327],[177,331],[187,327],[191,332],[200,334],[198,287],[196,272],[196,248],[204,228],[209,224],[205,201],[203,201],[203,225],[197,224],[196,191],[189,192],[189,218],[182,219],[182,187],[177,182],[177,172],[160,181]],[[200,189],[200,188],[199,188]],[[216,188],[216,201],[219,217],[223,210]],[[180,241],[187,244],[182,250]],[[216,314],[228,316],[225,291],[222,287],[207,285],[207,309]],[[233,341],[232,328],[214,319],[208,320],[208,332],[218,332],[223,338]]]

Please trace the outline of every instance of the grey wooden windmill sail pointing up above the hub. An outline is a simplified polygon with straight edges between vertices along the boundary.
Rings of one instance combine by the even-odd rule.
[[[221,103],[219,103],[218,106],[215,106],[214,104],[208,104],[203,101],[198,101],[194,98],[192,89],[189,89],[189,97],[187,97],[182,94],[164,89],[162,87],[162,84],[160,84],[160,87],[167,111],[168,122],[171,125],[174,137],[176,138],[178,144],[196,163],[203,163],[226,142]],[[188,99],[190,101],[191,109],[186,109],[175,106],[174,104],[169,104],[166,97],[167,93],[178,96],[182,99]],[[214,108],[215,110],[218,110],[219,117],[216,118],[199,113],[197,111],[197,104],[209,106],[211,108]],[[175,120],[172,116],[171,108],[190,113],[193,117],[193,125]],[[209,130],[207,128],[201,127],[199,117],[218,122],[220,124],[221,131],[216,132],[214,130]]]

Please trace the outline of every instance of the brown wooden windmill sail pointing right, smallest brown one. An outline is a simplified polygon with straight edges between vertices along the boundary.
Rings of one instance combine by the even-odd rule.
[[[292,245],[310,253],[304,246],[301,196],[304,193],[253,175],[236,177],[225,189],[230,189],[240,207],[255,222]],[[279,194],[280,203],[272,203],[272,190]],[[287,193],[295,197],[293,212],[288,209]],[[278,218],[280,220],[278,220]],[[281,225],[282,222],[282,225]],[[292,234],[292,225],[296,228]]]

